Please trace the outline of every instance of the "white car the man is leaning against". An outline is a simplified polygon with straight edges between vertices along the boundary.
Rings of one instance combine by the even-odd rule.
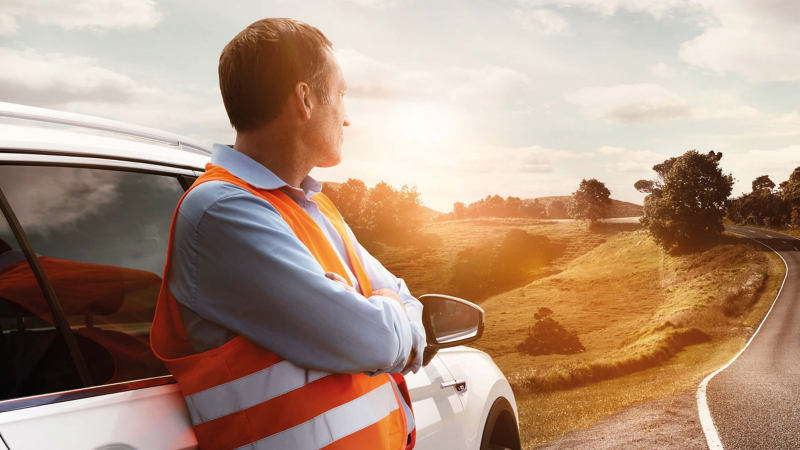
[[[197,448],[150,351],[170,219],[206,144],[0,103],[0,450]],[[406,377],[417,449],[519,449],[514,394],[461,344],[483,310],[422,296],[426,365]]]

